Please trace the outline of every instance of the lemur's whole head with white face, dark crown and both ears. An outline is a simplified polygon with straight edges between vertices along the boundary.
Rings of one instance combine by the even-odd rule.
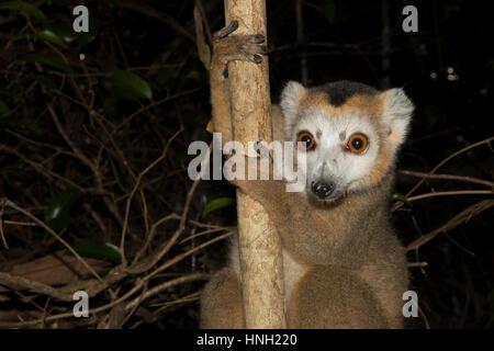
[[[289,82],[280,105],[287,140],[306,150],[305,194],[322,203],[377,184],[393,165],[413,112],[402,89],[380,92],[349,81],[314,89]]]

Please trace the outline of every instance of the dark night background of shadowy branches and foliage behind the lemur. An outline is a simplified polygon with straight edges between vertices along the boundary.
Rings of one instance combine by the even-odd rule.
[[[87,34],[71,30],[71,11],[80,3],[90,11]],[[349,79],[383,89],[404,87],[416,112],[398,170],[429,172],[453,152],[493,136],[494,24],[487,2],[307,0],[300,7],[303,23],[296,21],[295,3],[267,1],[273,102],[288,80],[301,81],[303,75],[308,86]],[[418,9],[418,33],[402,30],[406,4]],[[218,269],[225,253],[226,240],[211,240],[231,233],[236,223],[232,205],[203,213],[214,199],[234,199],[233,186],[203,181],[195,189],[187,176],[189,144],[211,140],[205,131],[211,118],[209,78],[197,53],[193,7],[194,1],[0,1],[0,197],[44,220],[81,256],[92,258],[103,279],[120,262],[104,242],[119,247],[126,228],[131,260],[150,238],[141,259],[156,262],[101,288],[91,296],[91,308],[108,306],[141,279],[145,286],[117,306],[164,282],[190,278],[126,310],[112,325],[116,327],[197,327],[206,278],[200,274]],[[223,1],[202,1],[202,8],[206,33],[224,25]],[[385,29],[389,34],[383,34]],[[166,156],[154,165],[165,149]],[[437,173],[483,183],[428,179],[414,195],[489,192],[493,163],[487,143],[474,146]],[[398,173],[395,206],[419,180]],[[494,327],[491,206],[492,194],[457,194],[412,201],[392,212],[405,245],[441,226],[448,229],[409,251],[411,262],[428,264],[411,268],[422,312],[409,327]],[[472,208],[476,211],[451,222]],[[150,229],[164,216],[180,218],[184,210],[183,227],[171,218]],[[91,278],[58,267],[67,265],[69,256],[49,230],[7,223],[32,218],[5,203],[0,211],[9,246],[0,248],[0,271],[60,291],[74,284],[74,274],[82,282]],[[173,241],[177,230],[180,237]],[[172,245],[157,256],[167,244]],[[57,261],[57,268],[42,265],[46,258]],[[71,309],[71,303],[49,295],[0,290],[0,326],[27,327],[19,316],[35,320]],[[46,324],[102,327],[117,313],[109,306],[88,319],[54,317]]]

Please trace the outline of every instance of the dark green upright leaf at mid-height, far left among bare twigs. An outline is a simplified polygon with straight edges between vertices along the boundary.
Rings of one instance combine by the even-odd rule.
[[[45,212],[45,223],[54,231],[65,228],[71,220],[70,210],[74,207],[80,193],[74,189],[67,189],[60,192],[48,205]]]

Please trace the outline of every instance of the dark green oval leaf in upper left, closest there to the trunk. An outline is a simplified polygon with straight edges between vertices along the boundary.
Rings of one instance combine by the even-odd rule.
[[[113,75],[113,92],[124,100],[153,100],[153,91],[143,78],[128,70],[117,70]]]

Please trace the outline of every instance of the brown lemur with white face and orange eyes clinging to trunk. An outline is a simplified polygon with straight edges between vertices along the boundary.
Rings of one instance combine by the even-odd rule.
[[[259,64],[261,35],[215,35],[211,66],[213,126],[233,138],[227,64]],[[281,107],[281,109],[280,109]],[[304,88],[290,81],[272,107],[273,139],[306,149],[306,185],[236,180],[257,200],[281,237],[290,328],[402,328],[406,253],[389,222],[396,151],[414,106],[403,89],[379,91],[337,81]],[[281,111],[280,111],[281,110]],[[201,297],[202,328],[244,328],[238,248]]]

